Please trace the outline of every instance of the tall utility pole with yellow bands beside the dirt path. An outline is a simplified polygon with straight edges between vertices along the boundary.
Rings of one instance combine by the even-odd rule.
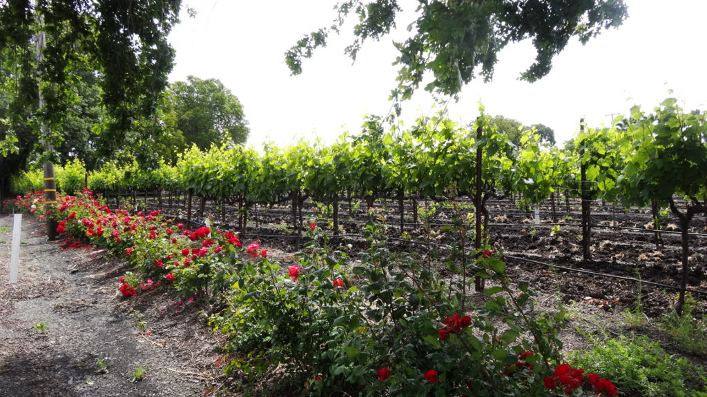
[[[44,61],[44,49],[47,43],[47,35],[44,31],[44,16],[40,13],[37,2],[33,1],[35,16],[37,18],[37,25],[39,25],[39,31],[36,36],[36,49],[37,49],[37,67]],[[39,74],[39,72],[37,72]],[[40,84],[40,79],[37,78],[37,96],[39,97],[39,112],[42,112],[44,108],[44,97],[42,95],[42,86]],[[40,142],[45,148],[45,154],[50,154],[54,151],[52,143],[49,142],[49,132],[47,131],[47,124],[40,117]],[[45,162],[44,165],[44,186],[45,186],[45,208],[47,209],[47,238],[49,240],[57,239],[57,221],[52,219],[51,214],[54,212],[54,208],[57,206],[57,184],[54,181],[54,165],[52,162]]]

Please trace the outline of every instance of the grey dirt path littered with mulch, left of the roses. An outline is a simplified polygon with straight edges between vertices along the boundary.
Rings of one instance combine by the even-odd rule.
[[[23,218],[18,284],[9,284],[11,216],[0,218],[0,397],[207,396],[214,336],[197,304],[117,293],[125,263],[95,247],[61,249]],[[173,302],[165,302],[165,299]],[[146,369],[133,381],[137,367]]]

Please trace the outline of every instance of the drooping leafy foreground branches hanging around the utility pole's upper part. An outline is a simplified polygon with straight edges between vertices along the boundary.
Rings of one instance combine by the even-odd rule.
[[[129,133],[132,122],[153,114],[156,98],[167,85],[174,59],[167,36],[177,23],[180,4],[180,0],[168,0],[134,6],[101,0],[86,6],[74,0],[1,7],[0,59],[15,69],[8,76],[8,116],[15,118],[33,106],[30,126],[42,141],[56,148],[65,137],[77,142],[76,129],[55,127],[69,125],[64,122],[71,122],[68,116],[75,114],[81,95],[88,97],[76,90],[88,73],[99,76],[97,84],[88,85],[93,90],[100,85],[100,97],[110,115],[111,127],[105,131],[110,138],[103,140],[103,154],[134,143],[138,137]],[[37,61],[33,42],[40,31],[45,33],[46,47]],[[39,89],[45,107],[37,112]],[[40,133],[40,124],[51,132]],[[81,134],[87,131],[80,130]]]

